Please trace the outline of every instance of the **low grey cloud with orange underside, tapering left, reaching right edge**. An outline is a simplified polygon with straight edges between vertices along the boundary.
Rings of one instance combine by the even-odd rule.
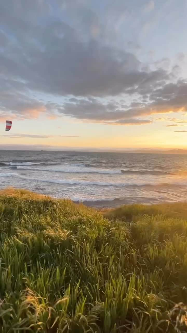
[[[153,114],[177,113],[187,110],[187,82],[178,80],[175,84],[165,84],[163,88],[153,90],[148,103],[132,102],[130,105],[123,105],[115,102],[102,103],[96,98],[74,99],[57,110],[82,120],[120,123],[121,120]]]

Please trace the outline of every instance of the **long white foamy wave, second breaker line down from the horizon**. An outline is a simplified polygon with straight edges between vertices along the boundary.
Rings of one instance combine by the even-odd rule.
[[[120,170],[102,170],[102,169],[46,169],[46,168],[36,168],[36,167],[29,167],[29,166],[13,166],[13,168],[19,169],[19,170],[35,170],[35,171],[49,171],[49,172],[62,172],[62,173],[105,173],[105,174],[120,174]]]

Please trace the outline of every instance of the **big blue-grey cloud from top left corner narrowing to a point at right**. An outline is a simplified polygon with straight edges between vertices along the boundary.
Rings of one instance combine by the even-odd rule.
[[[168,78],[164,70],[141,71],[133,53],[106,45],[100,38],[93,39],[92,34],[85,41],[82,30],[65,23],[65,19],[63,22],[49,16],[50,20],[38,25],[37,18],[43,11],[48,13],[44,2],[42,6],[37,1],[33,5],[21,3],[17,7],[11,0],[0,4],[1,24],[9,38],[6,50],[0,53],[2,77],[14,81],[19,78],[26,88],[35,91],[94,97],[116,96],[146,83],[152,87]],[[83,6],[81,9],[81,16],[85,14],[82,25],[89,27],[95,13]],[[24,10],[29,13],[29,21]],[[69,17],[72,11],[68,6]]]

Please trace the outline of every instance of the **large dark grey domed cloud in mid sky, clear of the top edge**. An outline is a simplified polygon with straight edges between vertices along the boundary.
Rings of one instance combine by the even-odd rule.
[[[83,43],[63,22],[35,33],[37,37],[33,38],[45,52],[35,49],[36,46],[31,49],[23,40],[24,45],[14,50],[15,59],[11,59],[11,48],[6,55],[0,55],[2,75],[21,77],[28,89],[58,95],[104,97],[129,89],[132,93],[140,86],[151,89],[169,78],[163,69],[141,71],[140,61],[132,53],[95,40]]]

